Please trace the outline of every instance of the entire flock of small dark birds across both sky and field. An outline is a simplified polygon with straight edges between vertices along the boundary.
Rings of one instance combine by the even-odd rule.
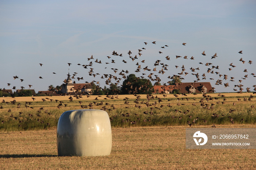
[[[157,44],[157,42],[152,42],[154,45]],[[183,46],[186,46],[187,43],[182,43]],[[227,74],[228,70],[231,71],[234,67],[236,67],[235,65],[233,65],[233,63],[230,63],[228,65],[228,70],[226,71],[223,71],[223,73],[220,73],[221,71],[218,71],[220,68],[218,65],[214,65],[213,63],[211,62],[206,62],[206,63],[202,63],[202,62],[199,62],[200,65],[204,65],[204,67],[206,66],[206,72],[203,73],[202,75],[199,74],[199,70],[200,68],[197,67],[197,68],[193,68],[193,65],[191,64],[192,61],[194,61],[196,59],[196,57],[188,57],[187,55],[185,55],[184,57],[180,56],[180,55],[176,55],[175,57],[173,56],[173,58],[169,57],[169,55],[167,55],[166,57],[163,57],[162,55],[164,54],[164,51],[163,50],[159,50],[158,53],[159,55],[161,56],[158,56],[155,58],[155,61],[152,65],[148,65],[150,63],[148,63],[148,61],[146,61],[147,59],[143,58],[143,51],[146,50],[146,47],[148,46],[148,43],[147,42],[144,42],[144,47],[142,47],[141,49],[138,49],[137,52],[132,52],[132,51],[127,51],[127,54],[128,54],[128,57],[127,55],[125,54],[119,54],[117,53],[117,51],[113,51],[112,52],[112,56],[107,56],[106,58],[102,58],[102,59],[98,59],[98,58],[94,58],[93,55],[91,55],[91,57],[87,58],[87,64],[80,64],[78,63],[77,65],[78,66],[81,66],[83,67],[84,69],[87,69],[88,70],[88,73],[89,73],[89,76],[92,77],[93,81],[91,82],[88,82],[86,81],[86,83],[90,83],[90,84],[96,84],[97,85],[97,88],[100,88],[103,90],[102,87],[99,86],[99,80],[98,81],[95,81],[97,78],[101,78],[104,80],[105,84],[106,85],[112,85],[112,84],[115,84],[118,88],[121,88],[122,87],[122,80],[125,80],[127,78],[127,76],[131,73],[135,73],[135,74],[140,74],[139,72],[142,72],[140,75],[140,77],[137,77],[135,80],[133,81],[138,81],[140,78],[146,78],[148,80],[150,80],[154,85],[159,85],[161,84],[162,80],[161,78],[163,77],[163,75],[166,75],[167,76],[165,78],[167,78],[167,81],[166,83],[163,84],[163,88],[166,87],[174,78],[177,78],[179,80],[184,80],[185,76],[188,75],[188,74],[191,74],[193,76],[195,76],[195,79],[193,80],[193,82],[200,82],[200,81],[205,81],[207,80],[207,77],[209,77],[208,75],[215,75],[217,76],[217,80],[215,78],[209,78],[208,80],[210,81],[215,81],[215,85],[224,85],[224,87],[228,87],[229,86],[229,82],[237,82],[236,85],[234,85],[233,87],[233,90],[237,93],[242,93],[244,92],[244,90],[246,90],[246,92],[251,92],[251,90],[253,90],[253,94],[256,93],[256,85],[252,85],[251,87],[244,87],[244,85],[242,85],[242,81],[248,79],[248,78],[254,78],[256,77],[255,73],[248,73],[248,69],[244,69],[242,70],[242,72],[244,72],[244,76],[243,77],[240,77],[240,78],[235,78],[235,77],[229,77],[229,75]],[[168,45],[163,45],[160,47],[160,49],[165,49],[165,48],[168,48],[169,46]],[[136,54],[134,54],[136,53]],[[239,54],[242,55],[242,51],[238,51]],[[200,54],[201,55],[201,54]],[[207,56],[206,55],[206,52],[203,51],[202,52],[202,55],[203,56]],[[217,53],[215,53],[214,55],[212,55],[209,59],[210,61],[214,60],[215,58],[217,58],[218,55]],[[142,59],[140,59],[142,58]],[[168,71],[170,69],[170,64],[173,64],[174,60],[178,60],[179,58],[183,58],[185,60],[191,60],[189,61],[187,64],[189,65],[189,69],[187,69],[187,67],[184,66],[184,64],[182,64],[182,66],[178,66],[178,65],[175,65],[175,67],[173,67],[171,69],[171,72],[173,72],[174,69],[179,69],[181,68],[181,70],[177,73],[177,74],[173,74],[173,75],[170,75],[170,71]],[[152,61],[152,59],[148,59],[150,61]],[[106,62],[103,62],[103,61],[106,61]],[[249,65],[252,65],[253,64],[253,61],[251,60],[248,60],[248,61],[245,61],[242,56],[240,59],[238,59],[239,62],[241,62],[241,64],[245,64],[245,63],[248,63]],[[121,65],[120,62],[123,62],[124,64],[127,64],[127,66],[125,67],[125,65]],[[94,67],[94,65],[97,63],[96,67]],[[185,63],[185,62],[184,62]],[[103,67],[105,67],[105,70],[104,70],[104,73],[103,74],[100,74],[100,73],[95,73],[96,70],[98,70],[98,64],[100,65],[104,65]],[[43,63],[39,63],[39,65],[41,67],[43,67]],[[110,70],[108,70],[108,66],[111,65],[111,66],[116,66],[116,67],[112,67]],[[72,66],[72,63],[68,63],[68,66]],[[122,69],[119,69],[119,67],[122,67]],[[124,69],[125,68],[125,69]],[[128,70],[129,69],[129,70]],[[135,70],[131,70],[131,69],[135,69]],[[55,72],[53,72],[53,74],[56,74]],[[78,73],[74,73],[73,76],[72,76],[72,79],[76,80],[77,81],[73,81],[74,83],[80,81],[80,80],[84,80],[83,77],[75,77],[77,76]],[[19,78],[18,76],[13,76],[14,80],[20,80],[21,82],[23,82],[24,80],[22,78]],[[39,76],[40,79],[42,79],[43,77]],[[89,80],[89,78],[87,78]],[[252,82],[255,82],[254,80],[252,80]],[[177,82],[177,83],[180,83],[182,84],[182,82]],[[130,89],[130,93],[131,94],[134,94],[136,96],[136,100],[133,101],[135,103],[135,107],[138,107],[139,109],[142,107],[142,105],[140,104],[144,104],[146,105],[146,107],[149,107],[150,108],[150,111],[145,111],[143,112],[143,114],[145,115],[152,115],[153,114],[153,109],[161,109],[162,107],[165,107],[165,105],[162,105],[161,102],[162,102],[162,98],[160,97],[154,97],[153,95],[151,94],[148,94],[147,95],[147,101],[144,102],[139,102],[139,99],[140,99],[140,96],[138,95],[137,90],[140,90],[140,89],[144,89],[145,92],[147,92],[150,88],[147,87],[149,84],[145,84],[143,86],[140,86],[139,88],[133,88],[132,87],[132,82],[127,82],[129,86],[128,89]],[[7,83],[8,86],[10,86],[11,84],[10,83]],[[29,88],[31,88],[31,86],[33,85],[28,85]],[[20,87],[21,89],[25,89],[24,86],[21,86]],[[13,86],[12,89],[16,89],[16,86]],[[5,90],[4,89],[0,89],[2,91]],[[59,90],[59,89],[53,89],[53,90]],[[211,92],[216,92],[215,91],[215,88],[213,87],[212,89],[210,89]],[[182,96],[187,96],[187,94],[181,94]],[[81,99],[83,98],[82,97],[83,94],[80,94],[80,95],[75,95],[73,97],[75,97],[76,99]],[[177,94],[174,94],[174,96],[177,98],[177,105],[178,106],[181,106],[181,105],[184,105],[180,102],[180,100],[189,100],[189,98],[178,98],[179,96]],[[225,96],[224,95],[221,95],[221,93],[219,93],[219,96],[220,97],[223,97],[223,101],[220,102],[220,101],[217,101],[217,104],[225,104]],[[87,97],[90,97],[87,95]],[[165,94],[163,94],[163,97],[165,97]],[[118,98],[118,94],[116,95],[106,95],[106,98],[105,99],[114,99],[114,98]],[[153,104],[150,104],[149,101],[152,100],[152,99],[158,99],[158,102],[155,101]],[[253,96],[251,95],[249,98],[244,98],[244,101],[251,101],[253,98]],[[33,100],[35,100],[35,98],[32,98]],[[72,98],[72,96],[70,96],[68,98],[70,101],[73,101],[74,98]],[[124,104],[128,104],[129,105],[129,101],[128,101],[129,98],[125,98],[125,102]],[[52,102],[52,99],[50,98],[42,98],[42,101],[47,101],[47,100],[50,100]],[[90,108],[90,109],[93,109],[94,105],[96,106],[102,106],[101,109],[102,110],[108,110],[108,111],[111,111],[113,109],[115,109],[114,105],[110,105],[108,103],[105,103],[105,105],[103,104],[103,101],[101,102],[98,102],[98,97],[96,97],[95,99],[95,102],[93,103],[89,103],[88,105],[83,105],[82,104],[82,101],[79,101],[79,104],[81,106],[81,108]],[[212,98],[210,95],[207,95],[207,94],[203,94],[203,98],[199,101],[200,102],[200,107],[201,108],[204,108],[204,109],[208,109],[208,110],[211,110],[214,108],[214,105],[215,104],[207,104],[205,103],[205,101],[214,101],[214,100],[217,100],[217,98]],[[241,99],[240,99],[241,100]],[[5,102],[4,100],[2,101],[2,103],[5,103],[5,104],[8,104],[7,102]],[[12,102],[10,102],[11,104],[17,104],[15,100],[13,100]],[[61,108],[63,106],[67,107],[67,104],[63,104],[62,101],[57,101],[56,100],[56,103],[59,103],[57,105],[58,108]],[[30,107],[30,105],[32,104],[31,101],[28,101],[26,102],[25,104],[25,107],[26,108],[33,108],[33,107]],[[107,106],[110,105],[111,108],[108,108]],[[196,105],[196,103],[193,103],[192,105]],[[235,105],[235,103],[234,103]],[[166,105],[166,107],[172,107],[170,104]],[[252,108],[254,108],[254,106],[252,105],[251,106]],[[3,109],[4,107],[1,105],[0,106],[0,109]],[[20,108],[20,103],[17,104],[17,108]],[[127,107],[128,108],[128,107]],[[43,112],[43,108],[40,108],[37,112],[37,116],[40,115],[41,112]],[[182,111],[178,111],[178,110],[175,110],[177,113],[180,112],[180,113],[184,113],[184,115],[188,114],[189,111],[185,111],[185,112],[182,112]],[[11,110],[9,109],[8,112],[11,113]],[[233,112],[232,109],[230,109],[230,112]],[[51,113],[49,113],[47,110],[45,110],[45,113],[51,115]],[[19,114],[22,114],[22,112],[19,112]],[[215,113],[214,113],[215,114]],[[212,117],[219,117],[219,115],[212,115]],[[32,117],[33,115],[29,115],[30,117]],[[123,114],[122,116],[124,117],[129,117],[129,113],[126,113],[126,114]],[[224,115],[225,116],[225,115]],[[19,117],[15,117],[13,115],[13,113],[11,113],[11,116],[12,118],[14,118],[15,120],[19,119]],[[40,116],[38,116],[40,117]],[[176,117],[174,116],[174,118],[177,118],[177,119],[182,119],[182,117]],[[110,117],[110,120],[113,120],[114,118],[113,117]],[[196,123],[196,121],[198,120],[199,118],[195,118],[193,121],[188,121],[188,125],[193,125],[194,123]],[[44,123],[44,121],[41,121],[40,119],[38,120],[40,121],[41,123]],[[122,120],[123,122],[131,122],[131,124],[136,124],[137,120],[130,120],[130,119],[123,119]],[[150,118],[148,119],[144,119],[143,121],[150,121]],[[203,120],[203,121],[206,121],[206,120]],[[231,123],[233,124],[234,121],[233,121],[233,118],[230,117],[230,121]],[[243,120],[241,120],[243,121]],[[4,123],[4,120],[2,120],[2,123]],[[215,127],[215,125],[213,125],[212,127]]]

